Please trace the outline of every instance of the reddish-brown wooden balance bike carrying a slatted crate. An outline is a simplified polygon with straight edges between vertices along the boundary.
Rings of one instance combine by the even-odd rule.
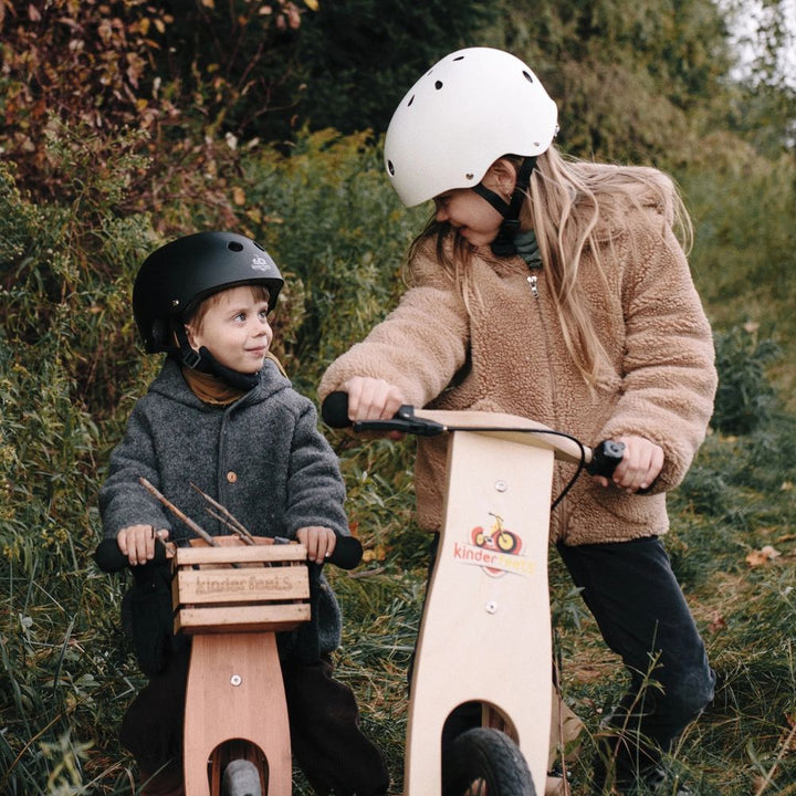
[[[185,705],[187,796],[291,796],[290,724],[275,633],[311,618],[306,548],[239,535],[191,540],[171,561],[174,631],[191,637]],[[165,551],[160,549],[160,561]],[[331,563],[352,568],[359,543]],[[95,561],[127,566],[115,540]]]

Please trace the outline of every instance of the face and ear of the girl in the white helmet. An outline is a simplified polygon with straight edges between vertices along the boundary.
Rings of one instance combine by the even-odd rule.
[[[484,187],[504,199],[511,197],[516,171],[507,160],[496,160],[482,180]],[[434,219],[448,222],[468,242],[475,247],[489,245],[500,232],[503,217],[470,188],[454,188],[434,197]]]

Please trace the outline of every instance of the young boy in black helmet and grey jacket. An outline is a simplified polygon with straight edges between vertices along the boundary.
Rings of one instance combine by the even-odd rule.
[[[313,619],[277,639],[293,752],[318,794],[387,793],[384,760],[359,731],[354,695],[332,677],[341,614],[320,565],[349,533],[345,490],[312,402],[268,356],[268,312],[282,285],[273,260],[253,241],[201,232],[150,254],[133,290],[147,353],[168,356],[111,455],[100,507],[105,536],[117,541],[136,575],[126,612],[150,679],[125,715],[122,742],[148,783],[146,796],[184,793],[189,654],[189,641],[158,621],[165,566],[151,563],[155,538],[181,544],[193,534],[139,484],[142,476],[189,517],[201,517],[211,535],[228,532],[191,484],[252,534],[306,545]]]

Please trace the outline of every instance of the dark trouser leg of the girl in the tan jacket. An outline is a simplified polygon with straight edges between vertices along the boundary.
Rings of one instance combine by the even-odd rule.
[[[715,674],[658,537],[559,544],[564,564],[630,688],[608,724],[604,752],[617,778],[656,765],[713,699]]]

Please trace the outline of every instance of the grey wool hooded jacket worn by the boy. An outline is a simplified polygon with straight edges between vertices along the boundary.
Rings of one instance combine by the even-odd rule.
[[[266,360],[260,384],[227,407],[201,401],[179,365],[164,363],[130,413],[100,491],[106,537],[129,525],[168,528],[179,543],[195,534],[140,485],[147,479],[211,535],[227,534],[196,484],[253,535],[295,538],[298,528],[347,536],[345,486],[337,458],[317,430],[312,401]],[[318,652],[339,646],[341,612],[323,575],[314,600]]]

